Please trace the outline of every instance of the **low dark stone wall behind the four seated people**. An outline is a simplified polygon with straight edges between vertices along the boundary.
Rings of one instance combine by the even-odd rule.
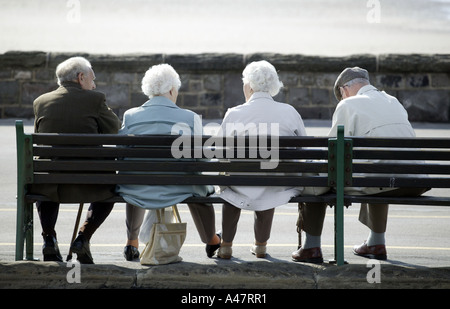
[[[251,61],[265,59],[279,71],[284,88],[276,100],[293,105],[304,119],[331,119],[336,106],[333,85],[348,66],[366,68],[373,85],[398,97],[411,121],[450,121],[450,55],[351,55],[318,57],[283,54],[0,54],[0,118],[33,118],[32,103],[56,89],[55,68],[81,55],[96,73],[97,90],[121,117],[147,98],[140,89],[145,71],[169,63],[180,74],[177,104],[203,119],[220,119],[227,108],[244,102],[241,73]]]

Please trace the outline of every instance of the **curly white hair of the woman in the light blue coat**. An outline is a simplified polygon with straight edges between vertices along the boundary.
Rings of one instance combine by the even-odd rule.
[[[152,66],[142,78],[142,92],[150,99],[169,92],[172,88],[181,87],[180,76],[169,64]]]

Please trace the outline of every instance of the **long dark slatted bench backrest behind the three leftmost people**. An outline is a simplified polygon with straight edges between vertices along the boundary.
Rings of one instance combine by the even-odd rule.
[[[329,164],[327,137],[25,134],[20,121],[16,127],[18,177],[24,185],[336,183],[328,173],[336,168]]]

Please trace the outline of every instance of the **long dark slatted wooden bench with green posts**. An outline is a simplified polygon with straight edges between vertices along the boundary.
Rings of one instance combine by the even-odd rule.
[[[171,146],[179,136],[107,135],[107,134],[25,134],[22,121],[16,121],[17,135],[17,231],[16,260],[33,259],[33,203],[47,200],[29,194],[31,184],[198,184],[334,187],[320,196],[297,196],[291,203],[324,202],[334,207],[335,262],[344,264],[344,205],[354,202],[418,205],[450,205],[450,197],[379,198],[347,196],[346,186],[449,188],[450,170],[442,161],[450,159],[450,139],[372,139],[345,138],[339,127],[337,138],[189,137],[183,145],[192,145],[191,158],[174,160]],[[266,153],[254,142],[269,145]],[[264,141],[265,140],[265,141]],[[241,142],[244,141],[244,145]],[[398,144],[400,143],[400,145]],[[222,145],[222,146],[221,146]],[[416,151],[379,150],[379,147],[420,148]],[[364,148],[360,149],[361,147]],[[422,149],[427,148],[427,149]],[[437,150],[436,150],[437,149]],[[208,153],[208,150],[210,151]],[[211,157],[211,152],[216,158]],[[245,154],[242,158],[242,155]],[[276,168],[262,169],[267,158],[278,159]],[[361,158],[438,160],[436,164],[360,164]],[[405,156],[405,157],[403,157]],[[40,159],[45,158],[45,159]],[[133,160],[122,160],[122,158]],[[217,159],[219,157],[220,159]],[[158,158],[158,161],[150,161]],[[195,159],[192,159],[195,158]],[[228,158],[228,159],[225,159]],[[147,159],[147,160],[146,160]],[[163,159],[163,160],[161,160]],[[445,166],[445,168],[444,168]],[[395,168],[395,169],[394,169]],[[353,177],[354,173],[439,174],[443,177]],[[183,171],[186,174],[174,173]],[[134,172],[127,174],[127,172]],[[151,172],[151,174],[149,174]],[[236,173],[241,173],[237,175]],[[282,174],[280,174],[282,173]],[[301,174],[303,173],[303,174]],[[306,173],[306,174],[305,174]],[[108,201],[123,203],[120,196]],[[187,202],[222,203],[220,196],[191,197]]]

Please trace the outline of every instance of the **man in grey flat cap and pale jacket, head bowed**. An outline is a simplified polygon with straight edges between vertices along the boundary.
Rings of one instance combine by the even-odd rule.
[[[414,137],[408,114],[393,96],[379,91],[369,81],[369,74],[359,67],[346,68],[338,76],[334,94],[339,101],[333,114],[330,137],[336,137],[338,125],[344,125],[345,136]],[[346,194],[419,196],[422,188],[346,188]],[[318,205],[319,204],[319,205]],[[388,204],[361,204],[359,220],[369,229],[369,237],[353,253],[363,257],[385,260],[385,232]],[[326,204],[302,205],[300,218],[306,239],[303,247],[292,253],[298,262],[322,263],[320,248]],[[301,233],[301,231],[299,231]]]

